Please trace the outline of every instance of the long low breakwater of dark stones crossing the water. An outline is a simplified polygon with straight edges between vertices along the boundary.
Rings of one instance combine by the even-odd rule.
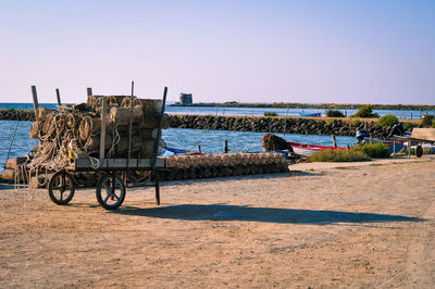
[[[35,121],[33,111],[0,110],[0,120]],[[237,130],[256,133],[286,133],[308,135],[355,136],[357,129],[365,129],[373,137],[387,137],[390,127],[381,127],[376,122],[355,124],[348,120],[252,117],[215,115],[170,115],[170,127],[210,130]]]

